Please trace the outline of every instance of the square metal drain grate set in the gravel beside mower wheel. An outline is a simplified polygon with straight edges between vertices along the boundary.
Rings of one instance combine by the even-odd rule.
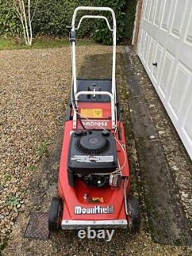
[[[31,212],[24,238],[50,238],[48,231],[48,213]]]

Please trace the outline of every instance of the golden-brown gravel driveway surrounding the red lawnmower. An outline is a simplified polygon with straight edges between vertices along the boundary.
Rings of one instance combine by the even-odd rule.
[[[108,53],[110,50],[98,45],[81,47],[78,65],[83,64],[86,55]],[[119,48],[118,51],[121,50]],[[47,194],[43,192],[42,201],[45,204],[39,201],[36,202],[37,208],[36,204],[33,206],[35,209],[41,208],[41,211],[48,207],[49,198],[46,195],[54,193],[55,183],[48,185],[50,181],[46,181],[41,164],[46,155],[54,151],[53,141],[62,125],[70,87],[71,57],[69,48],[60,48],[3,51],[0,58],[3,60],[0,62],[0,238],[2,244],[8,244],[3,255],[189,256],[190,248],[155,244],[147,231],[145,216],[142,218],[141,234],[134,237],[127,231],[116,231],[111,243],[80,240],[77,233],[72,231],[59,232],[48,241],[23,238],[28,208],[30,203],[34,204],[31,200],[32,189],[37,190],[35,200],[38,192],[48,189]],[[125,112],[129,113],[119,66],[118,81],[122,85]],[[128,129],[126,113],[124,118]],[[130,138],[128,145],[131,165],[135,171],[139,171],[133,138]],[[57,166],[53,169],[57,170]],[[38,185],[35,181],[38,181]],[[142,191],[137,191],[137,188],[133,190],[135,194],[140,194],[144,208]],[[12,234],[8,236],[11,231]]]

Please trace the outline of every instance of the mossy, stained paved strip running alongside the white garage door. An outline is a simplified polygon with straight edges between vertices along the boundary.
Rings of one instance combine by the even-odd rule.
[[[179,191],[130,58],[129,53],[124,54],[122,65],[151,234],[161,244],[191,245],[190,225],[178,198]]]

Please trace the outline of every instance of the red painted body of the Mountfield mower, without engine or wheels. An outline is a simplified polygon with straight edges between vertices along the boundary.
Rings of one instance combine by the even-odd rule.
[[[87,103],[87,102],[79,102],[79,108],[102,108],[104,109],[104,119],[97,119],[96,121],[110,121],[111,126],[111,104],[106,103]],[[95,121],[95,119],[91,119]],[[72,121],[65,121],[65,131],[63,138],[63,146],[61,151],[61,163],[59,169],[59,177],[58,177],[58,193],[65,203],[65,208],[63,211],[63,220],[118,220],[118,219],[126,219],[125,209],[124,209],[124,180],[121,181],[121,188],[114,189],[111,187],[108,188],[87,188],[84,185],[84,182],[80,179],[76,181],[74,188],[71,188],[68,185],[68,148],[70,141],[70,131],[73,131]],[[124,128],[121,122],[121,143],[125,145],[124,138]],[[97,128],[95,127],[91,127]],[[111,132],[114,132],[111,130]],[[118,133],[115,135],[118,138]],[[122,151],[120,145],[117,144],[118,149],[118,159],[120,161],[120,165],[124,164],[124,152]],[[129,177],[129,166],[128,162],[121,170],[123,177]],[[129,181],[127,182],[127,191],[129,189]],[[89,197],[95,198],[104,198],[104,203],[90,203],[86,201],[83,197],[84,193],[88,193]],[[82,208],[86,207],[94,207],[94,205],[101,205],[102,207],[113,205],[114,206],[114,214],[74,214],[74,207],[81,206]]]

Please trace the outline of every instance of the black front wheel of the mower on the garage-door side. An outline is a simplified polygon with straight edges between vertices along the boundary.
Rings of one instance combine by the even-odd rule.
[[[127,211],[129,213],[128,226],[131,234],[137,234],[141,226],[140,207],[137,198],[127,198]]]

